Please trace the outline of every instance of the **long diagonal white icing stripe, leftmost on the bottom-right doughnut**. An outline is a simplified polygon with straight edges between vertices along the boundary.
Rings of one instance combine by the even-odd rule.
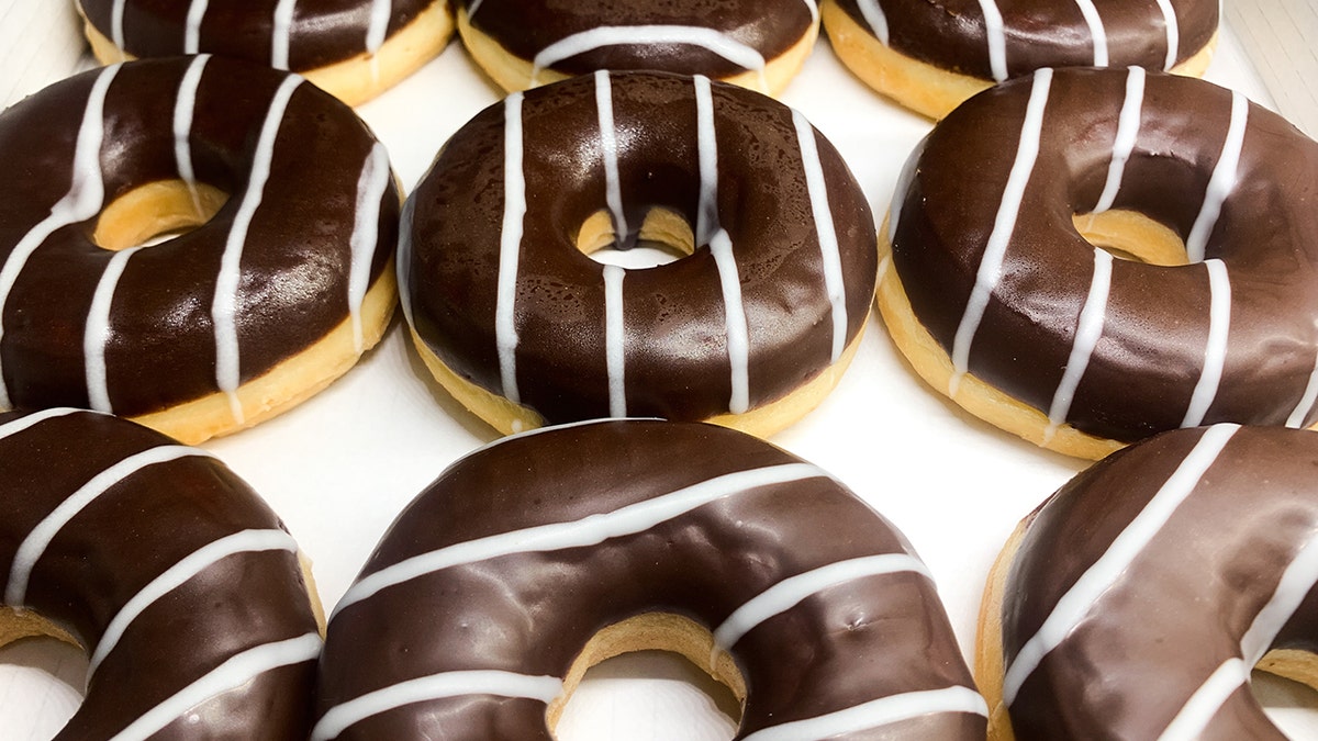
[[[1116,583],[1131,562],[1159,534],[1181,502],[1189,497],[1199,479],[1213,465],[1239,425],[1215,425],[1203,431],[1199,442],[1185,456],[1172,476],[1153,494],[1144,509],[1112,541],[1102,556],[1072,584],[1070,589],[1044,620],[1039,632],[1021,645],[1003,676],[1003,700],[1011,705],[1021,684],[1033,674],[1044,657],[1061,645],[1068,634],[1089,614],[1104,592]]]

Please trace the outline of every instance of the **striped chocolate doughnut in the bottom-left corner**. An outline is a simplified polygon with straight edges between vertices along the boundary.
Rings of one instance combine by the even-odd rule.
[[[57,738],[306,738],[319,601],[223,463],[94,411],[3,413],[0,510],[0,643],[90,655]]]

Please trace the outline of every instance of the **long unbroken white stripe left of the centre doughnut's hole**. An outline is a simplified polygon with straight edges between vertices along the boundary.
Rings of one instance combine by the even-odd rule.
[[[522,402],[517,388],[517,266],[526,218],[526,173],[522,171],[522,94],[503,99],[503,228],[498,244],[498,286],[494,303],[494,341],[498,348],[503,396]]]

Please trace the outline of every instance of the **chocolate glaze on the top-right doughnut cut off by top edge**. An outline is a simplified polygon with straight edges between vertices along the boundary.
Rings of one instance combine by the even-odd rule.
[[[830,0],[862,29],[874,26],[861,3],[879,8],[887,24],[884,44],[895,51],[963,75],[992,80],[990,34],[979,0]],[[990,0],[992,3],[992,0]],[[1218,30],[1218,3],[1170,0],[1174,30],[1153,0],[1095,3],[1102,22],[1107,65],[1095,57],[1095,34],[1078,3],[996,0],[1007,76],[1039,67],[1137,65],[1166,70],[1193,57]],[[882,38],[882,37],[880,37]],[[1176,49],[1169,57],[1169,40]]]

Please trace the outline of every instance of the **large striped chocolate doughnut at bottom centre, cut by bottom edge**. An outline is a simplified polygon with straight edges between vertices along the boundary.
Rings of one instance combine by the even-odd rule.
[[[647,649],[728,684],[737,738],[985,737],[892,525],[757,438],[625,419],[503,438],[399,514],[330,620],[311,738],[548,741],[590,665]]]

